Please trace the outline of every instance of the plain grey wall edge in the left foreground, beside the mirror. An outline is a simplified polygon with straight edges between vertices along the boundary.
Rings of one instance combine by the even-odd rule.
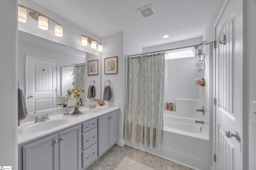
[[[0,1],[0,166],[18,169],[17,0]]]

